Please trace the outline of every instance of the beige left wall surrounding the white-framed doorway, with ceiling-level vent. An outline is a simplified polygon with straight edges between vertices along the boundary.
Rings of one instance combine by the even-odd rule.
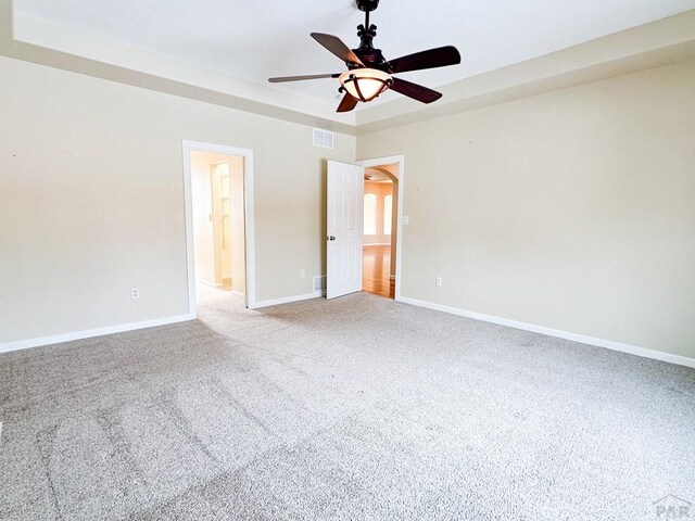
[[[353,161],[353,137],[318,149],[307,126],[7,58],[0,77],[0,343],[187,313],[184,139],[254,152],[257,300],[312,292],[325,158]]]

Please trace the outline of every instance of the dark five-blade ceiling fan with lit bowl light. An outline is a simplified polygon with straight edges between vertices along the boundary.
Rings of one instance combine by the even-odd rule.
[[[348,71],[334,74],[285,76],[269,78],[268,81],[279,84],[305,79],[338,78],[340,81],[338,90],[341,93],[345,92],[345,96],[338,105],[337,112],[350,112],[357,106],[359,101],[367,103],[387,89],[395,90],[422,103],[432,103],[439,100],[442,97],[440,92],[405,79],[394,78],[392,75],[457,65],[460,63],[458,50],[453,46],[439,47],[387,61],[381,54],[381,50],[375,49],[371,45],[377,36],[377,26],[369,25],[369,13],[378,5],[379,0],[357,0],[357,9],[366,13],[365,24],[357,26],[357,36],[361,39],[357,49],[351,50],[337,36],[312,33],[312,38],[345,62]]]

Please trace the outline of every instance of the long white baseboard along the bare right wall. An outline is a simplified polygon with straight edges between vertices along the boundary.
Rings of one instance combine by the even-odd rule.
[[[653,358],[655,360],[668,361],[670,364],[678,364],[679,366],[686,366],[695,368],[695,358],[688,358],[687,356],[673,355],[670,353],[664,353],[661,351],[647,350],[645,347],[637,347],[636,345],[622,344],[620,342],[614,342],[611,340],[596,339],[594,336],[586,336],[584,334],[570,333],[561,331],[559,329],[545,328],[543,326],[535,326],[533,323],[519,322],[517,320],[509,320],[507,318],[500,318],[492,315],[483,315],[482,313],[467,312],[457,307],[444,306],[441,304],[434,304],[432,302],[419,301],[417,298],[409,298],[407,296],[401,296],[399,302],[404,304],[410,304],[419,307],[427,307],[428,309],[434,309],[438,312],[448,313],[451,315],[458,315],[459,317],[473,318],[476,320],[482,320],[484,322],[498,323],[501,326],[508,326],[510,328],[522,329],[525,331],[532,331],[534,333],[547,334],[548,336],[556,336],[558,339],[571,340],[581,344],[594,345],[596,347],[605,347],[607,350],[620,351],[630,355],[642,356],[644,358]]]

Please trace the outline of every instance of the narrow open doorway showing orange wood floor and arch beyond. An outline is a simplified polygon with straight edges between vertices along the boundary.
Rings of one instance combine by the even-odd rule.
[[[395,296],[399,164],[365,167],[362,289]]]

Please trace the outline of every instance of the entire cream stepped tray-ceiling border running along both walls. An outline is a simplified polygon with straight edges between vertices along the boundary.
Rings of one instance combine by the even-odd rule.
[[[0,54],[351,136],[447,116],[695,58],[695,10],[439,87],[431,105],[409,99],[338,114],[267,85],[13,13],[0,0]]]

